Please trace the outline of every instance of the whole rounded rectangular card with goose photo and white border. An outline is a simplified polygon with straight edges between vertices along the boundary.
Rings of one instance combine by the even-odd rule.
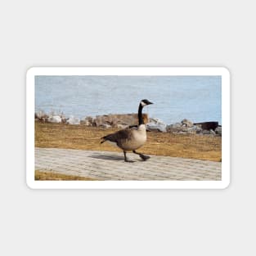
[[[226,68],[32,68],[26,83],[30,188],[229,185]]]

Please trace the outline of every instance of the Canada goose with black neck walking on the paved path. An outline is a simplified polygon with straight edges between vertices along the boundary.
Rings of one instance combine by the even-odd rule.
[[[142,100],[140,102],[137,117],[139,120],[139,124],[137,128],[126,128],[120,130],[115,133],[111,133],[106,135],[105,137],[101,137],[103,141],[101,143],[108,141],[115,146],[119,146],[120,149],[124,151],[124,161],[125,162],[132,162],[129,161],[126,157],[126,152],[132,150],[134,154],[137,154],[141,157],[142,160],[146,161],[150,158],[148,155],[143,155],[141,153],[137,153],[136,150],[143,146],[146,142],[146,126],[143,122],[142,118],[142,109],[146,105],[153,104],[148,100]]]

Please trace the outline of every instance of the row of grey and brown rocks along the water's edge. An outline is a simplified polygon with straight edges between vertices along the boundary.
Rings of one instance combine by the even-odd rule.
[[[38,111],[34,115],[35,120],[47,123],[81,124],[85,126],[94,126],[101,128],[128,128],[137,126],[137,114],[124,115],[97,115],[88,116],[85,119],[79,119],[74,116],[66,118],[65,115],[46,115],[43,111]],[[164,124],[160,119],[148,118],[147,114],[142,114],[147,131],[170,132],[170,133],[188,133],[188,134],[212,134],[222,136],[222,126],[218,122],[193,123],[188,119],[183,119],[180,123]]]

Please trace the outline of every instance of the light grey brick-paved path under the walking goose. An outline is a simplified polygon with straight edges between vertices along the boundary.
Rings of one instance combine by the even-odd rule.
[[[128,153],[110,151],[35,148],[35,169],[44,172],[90,177],[96,180],[175,180],[219,181],[222,164],[198,159],[150,155],[141,161]]]

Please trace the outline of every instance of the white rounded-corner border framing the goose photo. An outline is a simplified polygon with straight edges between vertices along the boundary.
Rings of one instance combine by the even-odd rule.
[[[222,76],[222,181],[35,181],[34,77],[36,75],[220,75]],[[230,73],[223,67],[33,67],[26,80],[26,182],[33,189],[223,189],[230,183]]]

